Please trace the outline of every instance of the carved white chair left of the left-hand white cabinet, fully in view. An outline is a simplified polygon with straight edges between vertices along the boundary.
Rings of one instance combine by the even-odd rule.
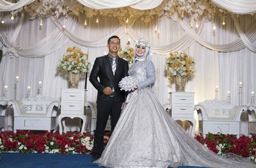
[[[14,124],[13,130],[55,130],[56,114],[60,102],[50,97],[37,95],[24,98],[23,100],[10,100],[13,107]]]

